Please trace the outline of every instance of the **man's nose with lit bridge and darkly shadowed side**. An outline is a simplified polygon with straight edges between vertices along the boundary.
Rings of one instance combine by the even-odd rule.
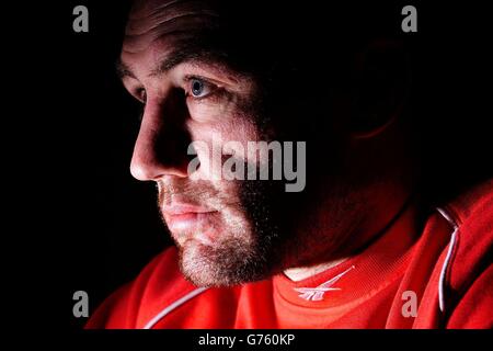
[[[130,162],[134,178],[156,181],[164,176],[187,177],[191,141],[183,107],[176,99],[162,102],[148,97]]]

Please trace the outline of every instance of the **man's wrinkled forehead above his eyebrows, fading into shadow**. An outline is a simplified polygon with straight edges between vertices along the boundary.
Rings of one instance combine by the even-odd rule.
[[[218,5],[207,0],[138,0],[130,11],[121,61],[137,76],[169,57],[218,56]]]

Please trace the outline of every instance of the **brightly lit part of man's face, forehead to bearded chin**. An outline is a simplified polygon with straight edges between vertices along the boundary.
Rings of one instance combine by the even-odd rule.
[[[121,57],[124,84],[145,105],[131,173],[157,182],[182,271],[197,285],[262,279],[277,264],[268,182],[227,180],[214,165],[226,154],[259,166],[246,143],[273,137],[260,127],[255,79],[200,47],[199,33],[216,21],[203,1],[140,1]],[[187,155],[192,141],[196,157]]]

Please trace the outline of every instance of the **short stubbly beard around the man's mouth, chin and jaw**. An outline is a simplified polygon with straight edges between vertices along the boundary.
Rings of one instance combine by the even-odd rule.
[[[180,269],[197,286],[231,286],[259,281],[282,271],[286,237],[279,235],[278,204],[283,182],[163,180],[159,206],[173,196],[217,211],[192,230],[171,233]],[[163,215],[164,219],[164,215]],[[165,223],[165,220],[164,220]],[[198,237],[210,231],[211,240]]]

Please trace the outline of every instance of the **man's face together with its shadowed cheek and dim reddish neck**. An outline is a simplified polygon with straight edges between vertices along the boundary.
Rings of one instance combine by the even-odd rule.
[[[216,10],[206,0],[136,2],[119,67],[126,89],[144,104],[131,173],[157,182],[181,269],[197,285],[245,283],[340,259],[357,247],[363,210],[378,197],[362,180],[370,172],[357,167],[367,157],[347,157],[346,134],[332,122],[344,107],[331,110],[325,79],[307,84],[285,69],[274,79],[275,58],[255,56],[254,38],[231,35]],[[313,104],[320,93],[321,109]],[[286,193],[287,178],[225,174],[231,159],[236,170],[271,168],[251,141],[308,138],[309,186],[299,193]],[[283,171],[289,163],[284,149]]]

